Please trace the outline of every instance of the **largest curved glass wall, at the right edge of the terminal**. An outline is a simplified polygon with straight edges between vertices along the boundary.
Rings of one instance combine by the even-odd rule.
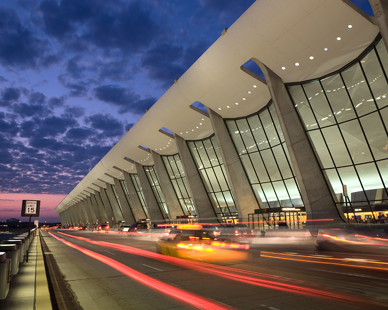
[[[388,197],[387,70],[388,54],[380,39],[340,72],[288,85],[342,207],[350,200],[350,206],[372,212],[372,205]],[[342,197],[343,185],[348,199]]]

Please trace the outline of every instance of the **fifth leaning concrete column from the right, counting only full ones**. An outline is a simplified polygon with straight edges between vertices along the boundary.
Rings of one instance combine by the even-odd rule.
[[[162,216],[162,211],[159,208],[159,204],[155,198],[154,192],[148,182],[148,178],[144,168],[139,163],[135,162],[137,175],[139,176],[139,181],[143,189],[144,199],[148,208],[149,216],[152,222],[162,223],[164,218]]]

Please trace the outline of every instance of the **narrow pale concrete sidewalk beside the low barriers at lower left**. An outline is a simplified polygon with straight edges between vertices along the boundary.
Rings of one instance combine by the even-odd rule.
[[[1,301],[0,309],[52,309],[39,230],[31,241],[28,263],[24,259],[19,264],[19,272],[13,276],[8,296]]]

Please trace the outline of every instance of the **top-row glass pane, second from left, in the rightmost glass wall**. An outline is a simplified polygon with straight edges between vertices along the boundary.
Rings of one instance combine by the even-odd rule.
[[[307,100],[310,103],[311,109],[314,111],[315,118],[320,127],[329,126],[336,123],[330,106],[327,103],[326,96],[323,93],[320,82],[303,84],[303,89],[306,92]]]

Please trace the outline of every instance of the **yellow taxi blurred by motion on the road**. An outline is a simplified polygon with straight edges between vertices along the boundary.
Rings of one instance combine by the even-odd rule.
[[[156,243],[160,254],[202,262],[246,261],[248,245],[225,243],[211,238],[201,225],[178,225]]]

